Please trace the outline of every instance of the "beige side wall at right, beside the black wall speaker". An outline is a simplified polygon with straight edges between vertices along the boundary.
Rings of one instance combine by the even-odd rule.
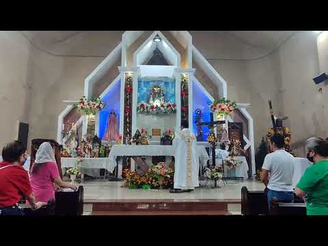
[[[272,55],[281,80],[286,125],[292,131],[292,148],[304,154],[308,137],[327,135],[327,88],[318,92],[312,78],[320,73],[317,35],[303,31],[290,38]]]

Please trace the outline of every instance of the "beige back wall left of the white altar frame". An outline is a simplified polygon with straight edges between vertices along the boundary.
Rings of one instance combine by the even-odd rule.
[[[29,139],[57,139],[61,100],[79,100],[84,79],[100,64],[100,57],[58,57],[33,49],[33,96],[29,113]]]

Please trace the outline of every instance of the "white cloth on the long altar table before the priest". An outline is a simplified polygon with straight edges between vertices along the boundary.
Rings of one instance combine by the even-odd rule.
[[[200,158],[200,165],[206,165],[209,160],[208,154],[204,146],[197,146],[198,156]],[[175,149],[173,146],[159,146],[159,145],[115,145],[109,152],[109,172],[113,172],[116,166],[117,156],[174,156]]]

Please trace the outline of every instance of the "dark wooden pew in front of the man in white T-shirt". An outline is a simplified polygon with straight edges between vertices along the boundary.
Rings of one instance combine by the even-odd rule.
[[[303,204],[304,201],[294,193],[294,203]],[[241,188],[241,214],[242,215],[269,215],[268,198],[264,191],[249,191],[247,187]]]

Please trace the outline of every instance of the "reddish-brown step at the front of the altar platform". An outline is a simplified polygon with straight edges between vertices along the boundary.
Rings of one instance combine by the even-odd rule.
[[[85,200],[92,215],[231,215],[236,200]]]

